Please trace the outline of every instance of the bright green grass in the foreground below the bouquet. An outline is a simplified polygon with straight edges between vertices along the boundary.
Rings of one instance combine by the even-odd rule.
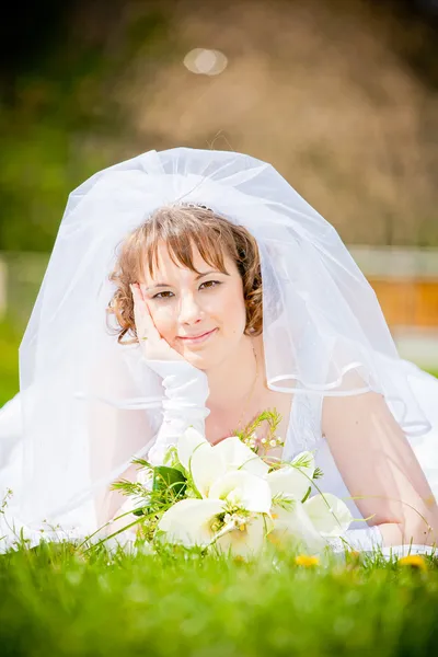
[[[420,656],[438,645],[438,560],[297,566],[196,553],[0,557],[0,654]]]

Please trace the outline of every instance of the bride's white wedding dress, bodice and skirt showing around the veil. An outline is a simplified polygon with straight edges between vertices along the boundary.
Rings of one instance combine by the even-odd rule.
[[[410,442],[423,468],[434,495],[438,498],[438,380],[423,372],[416,366],[406,361],[410,372],[410,383],[417,396],[426,416],[433,424],[433,429],[420,438],[410,438]],[[291,404],[290,420],[284,458],[289,460],[304,449],[314,450],[315,465],[323,471],[323,479],[319,485],[324,493],[332,493],[345,500],[353,517],[357,519],[350,529],[364,528],[362,518],[350,496],[341,473],[332,457],[330,447],[321,431],[322,399],[316,395],[296,395]],[[0,499],[7,491],[16,491],[23,485],[22,481],[22,446],[20,394],[0,410]],[[25,485],[25,483],[24,483]],[[313,489],[316,493],[316,489]],[[66,538],[83,538],[90,531],[90,526],[79,522],[76,527],[65,527],[62,530],[50,531],[45,528],[30,528],[20,522],[13,512],[13,498],[10,500],[5,512],[0,514],[0,553],[14,545],[16,535],[22,531],[28,539],[30,545],[46,540],[65,540]],[[84,507],[84,515],[87,508]],[[391,549],[384,549],[390,553]]]

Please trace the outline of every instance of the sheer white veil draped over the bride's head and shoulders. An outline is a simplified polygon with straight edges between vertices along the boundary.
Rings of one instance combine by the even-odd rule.
[[[92,531],[95,499],[153,445],[161,381],[138,345],[117,343],[105,309],[124,238],[174,204],[208,206],[256,238],[269,388],[373,390],[408,437],[430,430],[412,385],[426,380],[399,357],[371,287],[335,229],[270,164],[226,151],[149,151],[71,193],[20,348],[20,400],[0,414],[0,439],[4,458],[15,450],[20,462],[11,508],[28,527],[45,519]],[[438,399],[435,379],[427,387]]]

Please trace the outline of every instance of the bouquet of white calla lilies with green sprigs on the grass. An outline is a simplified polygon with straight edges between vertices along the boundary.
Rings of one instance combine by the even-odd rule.
[[[264,442],[274,447],[275,440]],[[321,553],[330,539],[348,529],[348,507],[330,493],[311,496],[312,484],[322,476],[312,452],[285,462],[261,456],[262,448],[253,434],[212,446],[189,427],[168,449],[163,465],[136,459],[138,481],[119,481],[113,488],[134,497],[130,512],[137,518],[129,527],[138,525],[137,537],[151,544],[247,557],[268,542],[288,541]]]

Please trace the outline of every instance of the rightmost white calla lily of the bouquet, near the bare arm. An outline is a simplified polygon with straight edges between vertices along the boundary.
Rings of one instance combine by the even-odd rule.
[[[345,502],[331,493],[324,493],[324,496],[314,495],[306,500],[303,506],[313,527],[323,537],[338,537],[354,520]]]

